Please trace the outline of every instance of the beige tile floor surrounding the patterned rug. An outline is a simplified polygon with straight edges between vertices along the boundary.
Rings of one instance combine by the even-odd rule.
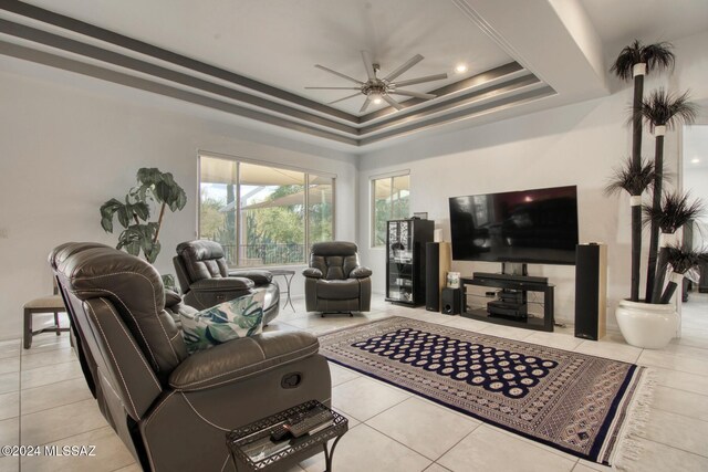
[[[490,325],[391,305],[381,297],[366,315],[308,314],[302,300],[285,308],[269,329],[315,334],[378,319],[409,316],[562,349],[638,363],[654,368],[655,398],[641,433],[645,450],[638,471],[708,471],[708,295],[684,305],[683,337],[668,348],[628,346],[618,333],[595,343],[555,333]],[[407,391],[331,365],[332,401],[350,418],[335,453],[337,472],[396,471],[608,471],[533,441],[516,437]],[[2,471],[122,471],[139,468],[98,412],[64,334],[0,343],[0,444],[94,444],[95,458],[0,458]],[[322,471],[322,454],[295,468]]]

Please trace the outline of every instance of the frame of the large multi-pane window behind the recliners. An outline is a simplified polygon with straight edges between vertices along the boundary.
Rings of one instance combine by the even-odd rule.
[[[302,263],[296,262],[296,263],[278,263],[278,264],[264,264],[264,265],[257,265],[257,266],[264,266],[264,268],[277,268],[277,266],[292,266],[292,265],[306,265],[308,264],[308,249],[311,247],[310,243],[310,176],[316,176],[316,177],[324,177],[324,178],[330,178],[332,179],[332,240],[336,241],[336,178],[337,175],[336,174],[332,174],[332,172],[326,172],[326,171],[322,171],[322,170],[315,170],[315,169],[309,169],[309,168],[303,168],[303,167],[298,167],[298,166],[289,166],[289,165],[284,165],[281,162],[273,162],[270,160],[264,160],[264,159],[252,159],[252,158],[248,158],[248,157],[242,157],[242,156],[233,156],[233,155],[228,155],[228,154],[221,154],[221,153],[212,153],[212,151],[208,151],[208,150],[198,150],[197,151],[197,199],[196,199],[196,207],[197,207],[197,228],[196,228],[196,234],[197,234],[197,239],[201,239],[201,159],[202,158],[212,158],[212,159],[222,159],[222,160],[230,160],[232,162],[236,164],[236,176],[237,176],[237,183],[236,183],[236,208],[235,211],[237,212],[237,214],[241,211],[241,169],[240,169],[240,164],[250,164],[250,165],[254,165],[254,166],[261,166],[261,167],[270,167],[272,169],[280,169],[280,170],[291,170],[291,171],[295,171],[295,172],[302,172],[304,175],[304,199],[303,199],[303,207],[304,207],[304,217],[303,217],[303,231],[304,231],[304,253],[303,253],[303,261]],[[241,231],[236,231],[236,241],[235,243],[237,244],[237,248],[240,247],[241,243]],[[236,265],[229,265],[229,269],[241,269],[241,268],[253,268],[252,265],[240,265],[239,264],[239,250],[236,251],[236,261],[237,264]]]

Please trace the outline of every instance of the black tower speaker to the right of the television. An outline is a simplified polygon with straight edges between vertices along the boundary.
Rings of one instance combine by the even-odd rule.
[[[605,335],[607,247],[575,248],[575,337],[597,340]]]

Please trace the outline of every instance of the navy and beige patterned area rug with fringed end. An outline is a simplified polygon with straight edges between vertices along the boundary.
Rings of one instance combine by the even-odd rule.
[[[320,353],[590,461],[638,452],[626,437],[648,408],[644,367],[403,317],[322,335]]]

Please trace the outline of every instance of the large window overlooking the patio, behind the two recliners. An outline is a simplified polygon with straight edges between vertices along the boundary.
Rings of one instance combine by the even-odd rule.
[[[229,265],[302,264],[334,238],[334,178],[222,157],[199,159],[199,238]]]

